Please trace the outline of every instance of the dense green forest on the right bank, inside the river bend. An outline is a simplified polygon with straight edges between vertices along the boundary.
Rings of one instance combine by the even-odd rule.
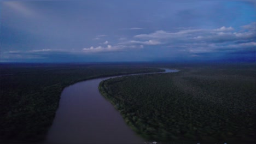
[[[146,140],[256,142],[255,64],[176,68],[105,80],[99,90]]]

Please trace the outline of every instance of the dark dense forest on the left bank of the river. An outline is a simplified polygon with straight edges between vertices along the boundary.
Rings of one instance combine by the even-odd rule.
[[[136,64],[1,64],[0,143],[40,141],[63,88],[96,77],[163,71]]]

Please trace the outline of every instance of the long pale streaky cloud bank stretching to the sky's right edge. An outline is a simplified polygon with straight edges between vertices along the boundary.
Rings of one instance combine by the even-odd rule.
[[[155,31],[149,34],[138,34],[134,38],[137,39],[155,39],[159,43],[193,43],[198,41],[208,41],[215,43],[224,43],[236,40],[255,40],[256,31],[254,31],[254,23],[242,26],[247,31],[235,31],[232,27],[220,27],[217,29],[185,29],[178,32]]]

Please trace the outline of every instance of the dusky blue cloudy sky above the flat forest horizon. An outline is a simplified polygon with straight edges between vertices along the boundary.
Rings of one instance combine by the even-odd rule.
[[[0,1],[0,62],[255,62],[256,1]]]

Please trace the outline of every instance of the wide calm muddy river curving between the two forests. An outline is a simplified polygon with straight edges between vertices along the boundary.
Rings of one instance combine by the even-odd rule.
[[[164,73],[178,70],[165,69]],[[44,143],[144,143],[98,91],[104,77],[66,87]]]

